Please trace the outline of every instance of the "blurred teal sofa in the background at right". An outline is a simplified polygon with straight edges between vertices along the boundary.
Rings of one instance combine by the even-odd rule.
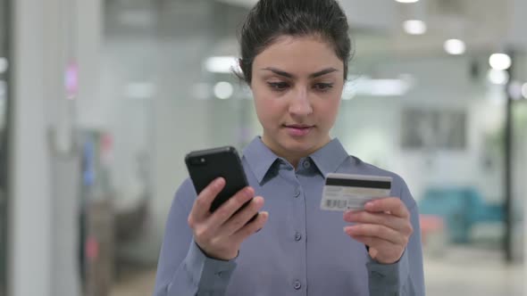
[[[432,187],[426,190],[419,210],[423,215],[434,215],[445,221],[448,241],[469,243],[471,230],[478,224],[503,223],[505,210],[501,204],[482,200],[473,187]]]

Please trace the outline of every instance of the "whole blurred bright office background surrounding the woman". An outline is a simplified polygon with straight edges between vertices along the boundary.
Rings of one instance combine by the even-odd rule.
[[[405,177],[429,295],[522,295],[527,1],[341,0],[333,136]],[[0,0],[0,295],[147,295],[184,155],[260,127],[255,0]]]

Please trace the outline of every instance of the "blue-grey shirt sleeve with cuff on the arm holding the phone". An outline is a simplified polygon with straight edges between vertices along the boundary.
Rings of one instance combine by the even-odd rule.
[[[195,198],[188,179],[172,201],[157,265],[155,296],[222,296],[230,282],[236,262],[207,257],[192,239],[187,218]]]

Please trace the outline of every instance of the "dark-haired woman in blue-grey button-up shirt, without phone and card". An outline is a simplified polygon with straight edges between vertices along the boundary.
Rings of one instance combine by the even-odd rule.
[[[211,213],[222,178],[198,196],[189,180],[180,186],[155,295],[423,295],[418,212],[406,183],[329,135],[351,51],[339,4],[260,0],[240,44],[240,76],[263,127],[243,153],[250,187]],[[333,172],[392,177],[392,197],[344,215],[320,210]]]

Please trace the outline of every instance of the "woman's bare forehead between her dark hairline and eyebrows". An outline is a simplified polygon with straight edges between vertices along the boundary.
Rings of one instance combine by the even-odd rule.
[[[257,69],[277,67],[281,70],[311,73],[327,67],[341,70],[344,64],[330,42],[322,37],[283,36],[256,55],[254,66]]]

